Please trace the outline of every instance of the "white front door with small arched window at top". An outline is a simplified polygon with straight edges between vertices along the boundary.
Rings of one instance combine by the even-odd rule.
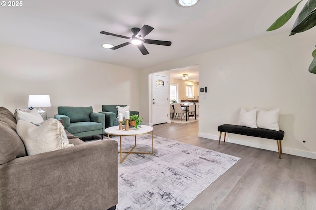
[[[167,77],[152,74],[152,116],[153,125],[168,121]]]

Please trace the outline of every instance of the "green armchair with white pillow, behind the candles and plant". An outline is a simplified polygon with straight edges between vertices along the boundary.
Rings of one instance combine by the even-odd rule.
[[[117,106],[125,107],[127,105],[102,105],[102,113],[105,115],[105,128],[119,125],[118,123],[118,109]],[[129,111],[129,114],[138,114],[138,111]]]

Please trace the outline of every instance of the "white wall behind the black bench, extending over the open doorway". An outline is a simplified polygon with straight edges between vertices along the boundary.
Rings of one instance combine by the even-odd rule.
[[[199,64],[199,86],[208,88],[205,99],[203,93],[199,95],[199,136],[218,139],[217,127],[237,124],[241,107],[280,108],[283,153],[316,158],[316,75],[308,72],[314,45],[313,30],[290,37],[288,32],[280,33],[146,68],[141,78]],[[148,110],[145,104],[140,107]],[[230,142],[277,151],[276,140],[228,137]]]

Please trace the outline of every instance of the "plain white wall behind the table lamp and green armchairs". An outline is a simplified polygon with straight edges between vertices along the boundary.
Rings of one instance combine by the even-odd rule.
[[[0,44],[0,106],[27,108],[30,94],[50,95],[52,107],[127,104],[139,110],[139,70]]]

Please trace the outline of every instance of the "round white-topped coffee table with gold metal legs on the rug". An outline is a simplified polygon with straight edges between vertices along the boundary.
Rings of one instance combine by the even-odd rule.
[[[123,130],[118,130],[119,126],[112,126],[112,127],[108,127],[104,130],[104,132],[108,135],[108,139],[110,135],[117,135],[120,137],[120,151],[118,151],[120,153],[120,163],[123,163],[123,161],[127,158],[127,156],[130,153],[133,154],[153,154],[153,127],[148,126],[148,125],[141,125],[141,128],[138,129],[132,129],[130,128],[128,131],[125,130],[125,128],[123,128]],[[147,133],[152,133],[152,151],[151,152],[133,152],[133,149],[136,147],[136,137],[137,135],[141,135],[141,134],[147,134]],[[122,136],[135,136],[135,145],[133,146],[133,148],[130,151],[122,151]],[[127,155],[122,158],[122,153],[127,153]]]

